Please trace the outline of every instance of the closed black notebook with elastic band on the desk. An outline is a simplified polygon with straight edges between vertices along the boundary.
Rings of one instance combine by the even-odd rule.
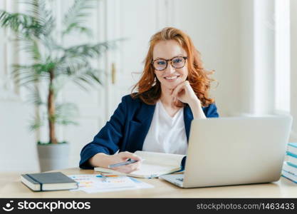
[[[21,175],[21,182],[33,191],[71,190],[78,183],[63,173],[35,173]]]

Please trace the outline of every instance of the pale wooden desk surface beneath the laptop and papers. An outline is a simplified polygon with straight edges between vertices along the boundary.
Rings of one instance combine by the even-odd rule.
[[[66,175],[93,174],[93,170],[59,170]],[[20,173],[0,173],[0,198],[297,198],[297,184],[281,177],[275,183],[182,189],[165,180],[140,179],[155,188],[110,193],[83,191],[33,192],[20,180]]]

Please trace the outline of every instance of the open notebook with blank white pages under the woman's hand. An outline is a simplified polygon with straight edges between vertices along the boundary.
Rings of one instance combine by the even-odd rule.
[[[146,151],[136,151],[135,155],[145,161],[142,161],[140,170],[132,173],[120,173],[110,168],[94,168],[95,171],[103,173],[115,173],[118,175],[127,175],[135,178],[157,178],[160,175],[170,174],[182,169],[184,155],[168,154],[168,153],[153,153]]]

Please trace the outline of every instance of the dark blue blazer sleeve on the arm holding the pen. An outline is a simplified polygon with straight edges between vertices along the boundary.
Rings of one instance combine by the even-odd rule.
[[[127,104],[125,97],[111,116],[105,126],[94,137],[91,143],[85,145],[80,152],[80,168],[93,168],[88,160],[97,153],[106,153],[108,155],[116,153],[122,143],[123,133],[125,129],[125,118],[127,114]]]

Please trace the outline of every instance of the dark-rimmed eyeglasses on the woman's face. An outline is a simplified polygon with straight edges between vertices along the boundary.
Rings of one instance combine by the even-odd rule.
[[[163,58],[157,58],[154,61],[152,61],[152,66],[157,71],[164,71],[168,66],[168,61],[171,61],[171,66],[173,68],[183,68],[184,64],[186,63],[187,56],[175,56],[171,59],[163,59]]]

